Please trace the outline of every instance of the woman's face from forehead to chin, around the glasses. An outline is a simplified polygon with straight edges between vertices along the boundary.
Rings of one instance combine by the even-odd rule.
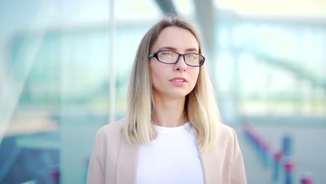
[[[150,53],[171,50],[180,54],[199,53],[199,44],[187,29],[169,26],[162,30]],[[178,63],[165,64],[150,58],[153,94],[160,98],[185,98],[196,85],[199,67],[187,66],[183,56]]]

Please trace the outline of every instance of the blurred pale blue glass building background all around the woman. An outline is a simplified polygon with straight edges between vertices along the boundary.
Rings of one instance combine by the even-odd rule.
[[[85,183],[142,36],[171,13],[201,33],[248,183],[326,183],[325,0],[0,1],[0,183]]]

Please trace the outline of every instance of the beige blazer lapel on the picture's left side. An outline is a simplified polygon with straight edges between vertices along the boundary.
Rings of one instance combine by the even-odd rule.
[[[138,158],[139,145],[129,144],[122,139],[116,168],[117,184],[136,183]]]

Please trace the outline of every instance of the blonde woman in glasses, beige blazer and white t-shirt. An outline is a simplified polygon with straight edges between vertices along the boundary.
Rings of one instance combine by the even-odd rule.
[[[235,131],[220,120],[194,28],[176,17],[143,37],[127,117],[96,134],[87,183],[247,183]]]

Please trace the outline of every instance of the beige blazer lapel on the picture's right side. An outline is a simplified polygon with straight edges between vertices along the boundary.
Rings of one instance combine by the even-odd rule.
[[[219,160],[216,148],[204,153],[200,152],[201,165],[203,167],[203,174],[205,184],[220,183],[222,181],[219,171]]]

